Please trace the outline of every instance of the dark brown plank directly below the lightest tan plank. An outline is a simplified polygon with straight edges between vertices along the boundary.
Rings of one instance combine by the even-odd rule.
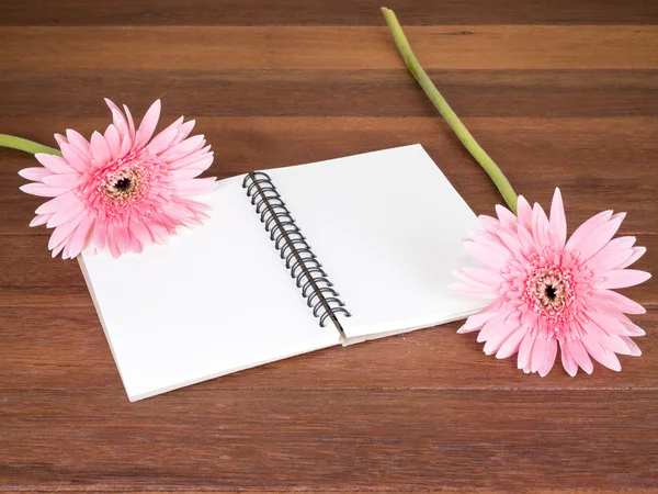
[[[656,116],[658,70],[429,70],[460,116]],[[192,90],[193,88],[193,90]],[[402,68],[44,70],[0,76],[2,116],[105,117],[104,97],[200,116],[435,116]]]

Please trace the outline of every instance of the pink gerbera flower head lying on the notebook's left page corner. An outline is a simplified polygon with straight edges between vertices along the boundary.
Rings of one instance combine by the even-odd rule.
[[[19,173],[33,180],[24,192],[54,198],[36,210],[30,226],[55,228],[53,257],[73,258],[86,247],[109,248],[114,257],[163,243],[178,226],[200,224],[207,205],[190,197],[214,190],[215,178],[195,179],[213,162],[203,135],[189,137],[194,121],[181,116],[151,139],[160,100],[139,128],[110,100],[113,123],[88,142],[76,131],[55,134],[61,157],[36,154],[43,167]]]

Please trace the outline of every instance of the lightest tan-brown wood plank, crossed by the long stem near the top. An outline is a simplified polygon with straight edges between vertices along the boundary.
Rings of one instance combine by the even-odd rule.
[[[656,69],[658,26],[409,26],[428,69]],[[54,43],[53,41],[57,42]],[[0,70],[390,69],[387,27],[3,27]],[[47,49],[44,49],[47,46]]]

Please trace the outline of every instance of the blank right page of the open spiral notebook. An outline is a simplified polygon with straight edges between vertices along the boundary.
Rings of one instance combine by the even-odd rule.
[[[352,313],[348,343],[484,306],[447,288],[477,217],[420,145],[266,172]]]

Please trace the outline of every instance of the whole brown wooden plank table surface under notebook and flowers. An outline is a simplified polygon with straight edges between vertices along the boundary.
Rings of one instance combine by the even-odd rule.
[[[212,175],[422,143],[476,213],[500,199],[407,72],[374,0],[0,3],[0,132],[54,145],[103,97],[194,117]],[[626,211],[658,263],[656,0],[395,0],[420,60],[517,191],[569,229]],[[644,356],[524,375],[458,323],[128,403],[29,155],[0,150],[0,490],[658,492],[658,284]],[[441,221],[438,218],[438,221]],[[438,252],[440,255],[440,252]]]

